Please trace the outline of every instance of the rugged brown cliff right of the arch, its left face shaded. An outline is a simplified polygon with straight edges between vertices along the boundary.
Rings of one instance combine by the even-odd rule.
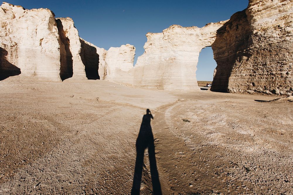
[[[293,1],[250,0],[218,30],[213,91],[293,93]]]

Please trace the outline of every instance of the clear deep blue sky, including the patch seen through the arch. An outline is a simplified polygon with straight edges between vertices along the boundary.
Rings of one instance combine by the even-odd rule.
[[[136,47],[135,61],[144,52],[147,32],[162,32],[173,24],[203,27],[227,20],[248,5],[248,0],[6,1],[26,9],[49,8],[56,17],[72,18],[79,36],[98,47],[132,44]],[[216,62],[211,58],[210,47],[200,53],[197,80],[212,80]]]

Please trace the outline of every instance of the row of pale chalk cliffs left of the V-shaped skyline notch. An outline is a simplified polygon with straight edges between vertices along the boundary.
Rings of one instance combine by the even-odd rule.
[[[134,46],[99,48],[79,37],[71,18],[55,19],[48,9],[4,3],[0,17],[0,80],[21,74],[52,81],[73,77],[119,82],[133,67]]]

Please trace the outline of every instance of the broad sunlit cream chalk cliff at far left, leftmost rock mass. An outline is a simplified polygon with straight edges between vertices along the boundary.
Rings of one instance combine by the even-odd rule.
[[[8,77],[7,70],[12,68],[12,75],[21,71],[25,76],[60,80],[60,39],[54,13],[3,3],[0,18],[1,77]]]

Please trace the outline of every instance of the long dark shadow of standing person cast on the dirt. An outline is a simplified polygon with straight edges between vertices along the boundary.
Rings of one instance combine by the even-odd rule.
[[[142,181],[142,168],[144,163],[144,150],[148,148],[149,164],[151,170],[151,182],[153,186],[153,194],[162,194],[161,184],[159,181],[159,173],[157,170],[154,136],[151,131],[151,111],[147,109],[147,113],[142,118],[139,134],[136,140],[136,161],[134,168],[134,177],[131,194],[139,194],[140,184]]]

